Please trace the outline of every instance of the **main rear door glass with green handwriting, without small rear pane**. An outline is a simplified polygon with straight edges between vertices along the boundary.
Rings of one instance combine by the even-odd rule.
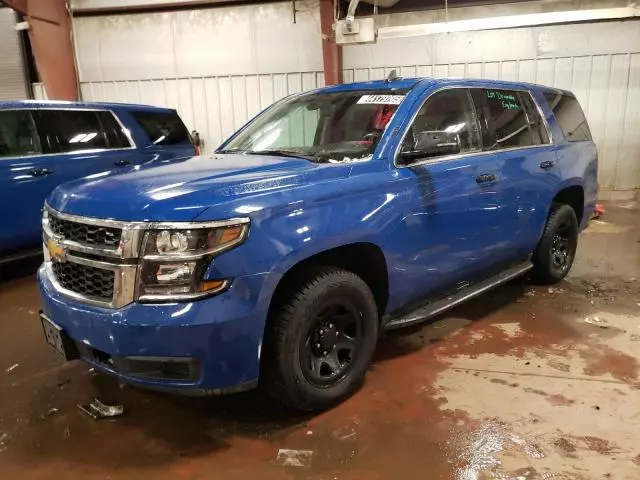
[[[488,150],[536,145],[520,93],[514,90],[482,90],[484,116],[489,132],[495,132]]]

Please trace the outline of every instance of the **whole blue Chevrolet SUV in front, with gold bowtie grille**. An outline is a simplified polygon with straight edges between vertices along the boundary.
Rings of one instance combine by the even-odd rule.
[[[565,277],[596,177],[569,92],[390,79],[291,96],[213,156],[58,187],[46,340],[140,386],[259,380],[327,407],[358,387],[380,331],[525,272]]]

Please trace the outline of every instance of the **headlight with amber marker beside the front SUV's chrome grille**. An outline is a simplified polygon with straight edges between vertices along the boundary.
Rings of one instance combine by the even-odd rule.
[[[216,254],[242,243],[249,224],[215,228],[162,229],[145,233],[138,277],[138,300],[189,300],[225,290],[230,279],[204,280]]]

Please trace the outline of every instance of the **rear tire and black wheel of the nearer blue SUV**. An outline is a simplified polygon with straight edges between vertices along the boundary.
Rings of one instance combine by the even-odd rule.
[[[554,204],[542,238],[533,252],[534,282],[551,285],[567,276],[578,247],[578,219],[569,205]]]

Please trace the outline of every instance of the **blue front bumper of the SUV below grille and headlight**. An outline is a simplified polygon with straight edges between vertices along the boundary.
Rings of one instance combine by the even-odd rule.
[[[63,328],[84,360],[122,381],[184,394],[255,384],[266,320],[266,311],[257,307],[263,280],[263,274],[239,277],[227,292],[195,302],[108,309],[62,295],[45,268],[38,271],[45,315]],[[182,364],[188,375],[174,369],[174,375],[152,378],[148,371],[140,374],[141,363],[134,365],[156,361]]]

